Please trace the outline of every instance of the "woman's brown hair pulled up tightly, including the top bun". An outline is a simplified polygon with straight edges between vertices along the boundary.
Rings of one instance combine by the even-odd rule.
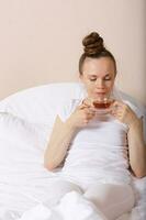
[[[114,63],[115,74],[116,74],[115,58],[112,55],[112,53],[104,47],[103,38],[97,32],[91,32],[89,35],[87,35],[82,40],[82,45],[85,53],[80,56],[79,59],[80,75],[82,75],[82,66],[87,57],[91,58],[110,57]]]

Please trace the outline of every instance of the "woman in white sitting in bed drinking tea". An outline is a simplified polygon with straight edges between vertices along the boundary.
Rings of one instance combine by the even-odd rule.
[[[49,196],[56,204],[76,190],[114,220],[135,204],[132,175],[146,175],[143,119],[133,105],[116,99],[106,114],[98,114],[93,101],[112,94],[116,63],[97,32],[82,44],[79,77],[88,96],[58,111],[44,161],[49,170],[64,162],[63,180],[54,183]]]

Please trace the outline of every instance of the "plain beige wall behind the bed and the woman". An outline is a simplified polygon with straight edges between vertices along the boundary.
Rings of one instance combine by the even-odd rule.
[[[0,1],[0,99],[52,81],[78,80],[81,40],[104,37],[117,85],[146,103],[145,0]]]

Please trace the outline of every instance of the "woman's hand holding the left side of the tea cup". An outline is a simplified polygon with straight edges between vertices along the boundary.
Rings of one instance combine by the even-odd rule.
[[[74,128],[83,128],[94,116],[96,109],[89,102],[86,102],[85,99],[82,103],[71,113],[68,120]]]

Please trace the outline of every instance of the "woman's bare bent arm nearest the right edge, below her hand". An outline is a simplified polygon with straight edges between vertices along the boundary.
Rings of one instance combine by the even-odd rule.
[[[135,176],[146,176],[146,144],[143,136],[143,123],[134,121],[127,133],[130,164]]]

